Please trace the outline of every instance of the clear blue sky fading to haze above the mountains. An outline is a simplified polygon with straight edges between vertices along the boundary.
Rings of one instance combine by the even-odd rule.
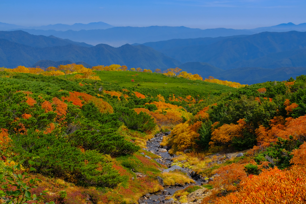
[[[257,28],[306,22],[306,0],[0,0],[0,22]]]

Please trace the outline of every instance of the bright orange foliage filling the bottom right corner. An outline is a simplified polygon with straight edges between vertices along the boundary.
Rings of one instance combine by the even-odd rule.
[[[241,189],[217,199],[216,204],[305,203],[305,166],[289,170],[263,169],[258,176],[249,176],[241,182]]]

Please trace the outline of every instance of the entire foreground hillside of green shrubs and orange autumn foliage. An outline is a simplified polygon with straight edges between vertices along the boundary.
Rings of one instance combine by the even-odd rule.
[[[159,72],[2,68],[2,198],[306,202],[305,75],[248,86],[178,68]]]

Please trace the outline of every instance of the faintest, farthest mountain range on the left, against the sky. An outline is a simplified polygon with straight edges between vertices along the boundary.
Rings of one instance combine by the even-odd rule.
[[[80,31],[80,30],[93,30],[93,29],[107,29],[113,28],[114,26],[104,23],[104,22],[94,22],[89,24],[75,23],[73,25],[67,24],[54,24],[54,25],[43,25],[43,26],[20,26],[15,24],[7,24],[0,22],[0,30],[8,31],[11,29],[37,29],[37,30],[55,30],[55,31]]]

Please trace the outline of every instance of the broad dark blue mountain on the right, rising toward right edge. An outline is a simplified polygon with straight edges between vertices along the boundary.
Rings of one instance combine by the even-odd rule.
[[[306,32],[297,31],[262,32],[227,38],[209,45],[190,45],[160,51],[181,62],[207,62],[221,69],[305,66],[305,36]]]

